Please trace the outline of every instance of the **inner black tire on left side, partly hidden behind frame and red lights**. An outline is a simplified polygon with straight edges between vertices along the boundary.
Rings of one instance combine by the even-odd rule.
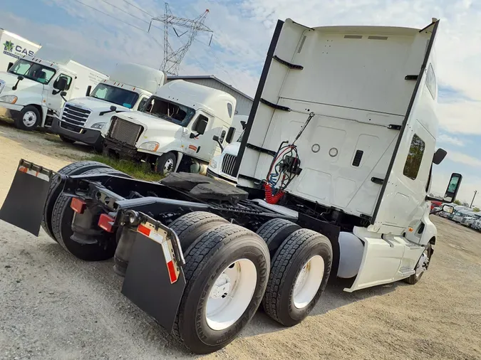
[[[120,175],[123,172],[114,170],[111,168],[91,169],[82,173],[83,175],[89,174],[115,174]],[[52,211],[52,230],[53,236],[58,243],[71,253],[76,258],[86,261],[100,261],[113,258],[117,243],[115,240],[108,242],[107,245],[102,248],[98,244],[83,245],[73,241],[71,235],[73,210],[70,207],[71,197],[61,194],[58,196]]]

